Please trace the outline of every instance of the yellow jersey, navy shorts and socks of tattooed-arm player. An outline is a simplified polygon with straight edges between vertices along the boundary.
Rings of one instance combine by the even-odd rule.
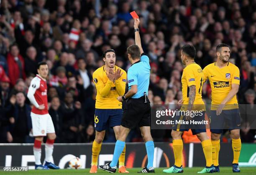
[[[200,65],[195,62],[190,63],[187,67],[184,68],[182,73],[182,99],[183,105],[180,111],[186,111],[187,106],[189,104],[189,86],[195,85],[196,94],[195,100],[192,106],[192,111],[201,111],[199,115],[196,115],[192,118],[192,121],[204,121],[205,120],[205,103],[202,100],[202,85],[203,85],[203,72]],[[192,112],[191,111],[191,112]],[[191,116],[191,115],[190,115]],[[174,121],[186,120],[184,115],[175,116]],[[205,133],[206,126],[205,123],[193,125],[189,124],[175,124],[173,125],[173,130],[176,131],[188,131],[191,129],[192,134]],[[206,160],[206,168],[212,168],[212,144],[211,141],[204,140],[202,141],[202,148],[205,155]],[[182,150],[183,150],[183,142],[181,139],[173,140],[173,150],[174,150],[174,166],[181,167],[182,166]]]

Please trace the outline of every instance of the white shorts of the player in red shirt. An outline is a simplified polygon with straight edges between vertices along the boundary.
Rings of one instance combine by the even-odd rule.
[[[31,112],[33,136],[46,136],[46,133],[55,133],[54,124],[49,114],[38,115]]]

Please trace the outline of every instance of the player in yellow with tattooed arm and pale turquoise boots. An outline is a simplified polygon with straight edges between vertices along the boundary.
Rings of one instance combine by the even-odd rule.
[[[188,124],[175,123],[172,127],[172,146],[174,152],[175,163],[174,166],[167,170],[163,170],[164,173],[182,173],[182,133],[183,131],[188,131],[190,128],[193,135],[197,135],[197,138],[201,140],[203,152],[206,159],[206,167],[198,173],[214,173],[215,168],[212,163],[212,143],[209,140],[206,133],[206,126],[204,123],[201,125],[193,125],[190,121],[202,121],[205,120],[205,104],[202,100],[202,84],[203,84],[203,73],[200,65],[197,65],[194,61],[196,55],[195,47],[192,45],[184,45],[181,51],[182,63],[186,65],[182,73],[182,100],[178,104],[183,104],[182,110],[187,110],[189,112],[196,111],[199,112],[199,115],[193,117],[190,113],[190,116],[177,115],[175,116],[176,121],[186,121]],[[194,106],[193,106],[194,105]],[[200,111],[198,111],[198,106],[200,106]],[[187,113],[187,112],[186,112]],[[191,118],[193,117],[193,118]]]

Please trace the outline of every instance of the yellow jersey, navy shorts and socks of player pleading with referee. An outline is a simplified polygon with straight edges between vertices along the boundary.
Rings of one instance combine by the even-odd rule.
[[[102,66],[93,72],[92,78],[95,84],[97,95],[95,103],[94,126],[95,130],[100,132],[106,130],[108,125],[113,128],[120,126],[123,115],[122,102],[117,100],[118,96],[125,93],[126,72],[115,66],[114,72],[120,69],[123,75],[118,79],[111,81],[108,79],[105,66]],[[101,143],[95,140],[92,144],[92,168],[97,166],[98,156],[101,150]],[[124,166],[125,148],[119,158],[119,167]],[[95,168],[97,172],[97,167]],[[95,173],[95,171],[93,172]]]

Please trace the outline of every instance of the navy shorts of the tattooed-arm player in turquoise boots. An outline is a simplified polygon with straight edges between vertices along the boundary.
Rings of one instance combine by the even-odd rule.
[[[176,115],[175,120],[174,120],[175,123],[174,123],[174,125],[172,125],[172,129],[175,131],[183,132],[183,131],[188,131],[189,129],[191,129],[193,135],[206,132],[206,125],[203,123],[197,124],[197,125],[192,125],[192,124],[190,124],[190,121],[189,121],[189,124],[177,124],[176,121],[179,121],[179,120],[187,121],[186,116]],[[194,120],[194,121],[205,120],[205,111],[202,111],[202,115],[195,116],[191,120]]]

